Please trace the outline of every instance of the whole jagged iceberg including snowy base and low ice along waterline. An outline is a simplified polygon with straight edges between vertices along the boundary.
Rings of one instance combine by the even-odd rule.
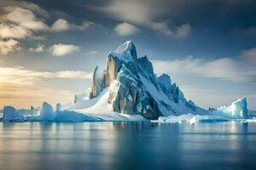
[[[169,75],[157,76],[148,57],[137,56],[131,41],[107,55],[105,68],[96,66],[89,94],[77,94],[67,105],[56,104],[55,111],[44,102],[39,116],[33,107],[16,111],[6,106],[3,112],[5,119],[51,122],[155,120],[195,124],[250,118],[246,98],[217,110],[195,105]]]

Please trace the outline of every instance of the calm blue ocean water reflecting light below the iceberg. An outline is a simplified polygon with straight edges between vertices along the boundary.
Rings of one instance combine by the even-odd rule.
[[[0,169],[256,169],[256,123],[0,123]]]

